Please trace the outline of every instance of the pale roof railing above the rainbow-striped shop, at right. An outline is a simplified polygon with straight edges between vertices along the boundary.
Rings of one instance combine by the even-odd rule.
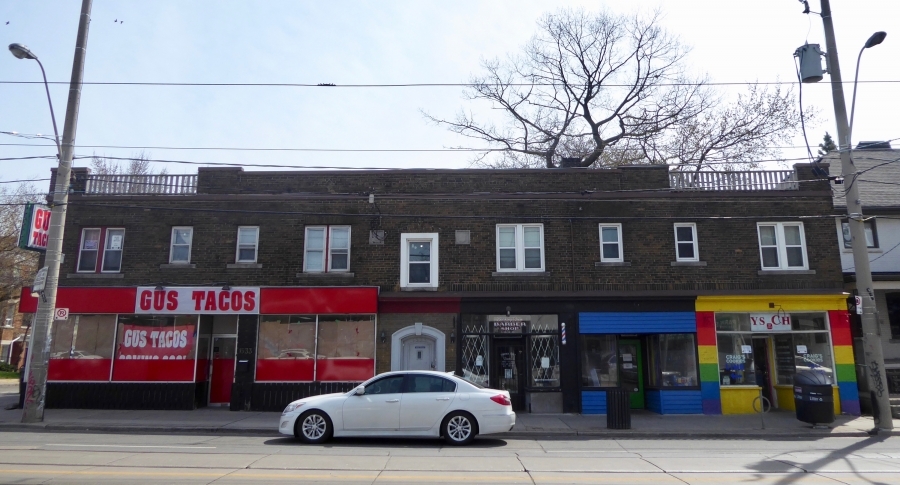
[[[797,190],[793,170],[744,172],[669,172],[675,190]]]

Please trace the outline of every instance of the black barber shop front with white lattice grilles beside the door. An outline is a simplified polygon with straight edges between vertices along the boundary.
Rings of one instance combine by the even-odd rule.
[[[556,315],[463,315],[464,378],[509,391],[514,411],[562,412]]]

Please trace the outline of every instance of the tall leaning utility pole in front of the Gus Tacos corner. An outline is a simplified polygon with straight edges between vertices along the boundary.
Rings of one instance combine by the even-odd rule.
[[[66,205],[69,202],[69,176],[72,154],[75,149],[75,127],[78,124],[78,104],[81,101],[81,81],[84,77],[84,58],[87,53],[87,34],[91,23],[92,0],[82,0],[78,20],[78,37],[75,40],[75,59],[72,62],[72,79],[69,82],[69,100],[66,105],[66,121],[63,128],[59,168],[56,169],[56,187],[50,201],[50,231],[44,264],[47,266],[47,282],[38,303],[32,330],[34,348],[28,349],[28,387],[22,413],[23,423],[44,420],[45,393],[47,390],[47,366],[50,358],[50,328],[56,308],[56,287],[59,283],[59,260],[62,254],[63,228],[66,225]]]

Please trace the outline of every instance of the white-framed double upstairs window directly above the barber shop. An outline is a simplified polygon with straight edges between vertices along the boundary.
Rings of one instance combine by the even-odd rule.
[[[497,271],[543,271],[544,225],[498,224]]]

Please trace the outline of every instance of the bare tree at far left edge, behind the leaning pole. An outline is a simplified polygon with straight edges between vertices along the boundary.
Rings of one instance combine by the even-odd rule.
[[[0,186],[0,299],[13,296],[34,280],[38,253],[19,249],[26,202],[39,202],[37,188],[30,183],[13,189]]]

